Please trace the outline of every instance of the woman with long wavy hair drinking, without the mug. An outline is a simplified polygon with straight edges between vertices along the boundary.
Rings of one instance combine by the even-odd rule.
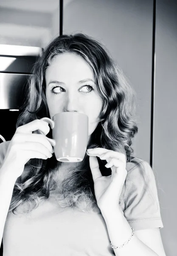
[[[33,74],[17,130],[0,144],[3,255],[165,256],[155,176],[132,155],[135,92],[107,49],[59,36]],[[40,120],[64,111],[89,117],[92,149],[79,163],[56,160]]]

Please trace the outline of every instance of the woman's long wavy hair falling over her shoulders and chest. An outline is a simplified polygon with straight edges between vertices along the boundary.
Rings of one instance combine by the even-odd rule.
[[[132,138],[138,132],[135,122],[136,93],[106,47],[82,33],[58,36],[44,49],[28,81],[26,100],[20,109],[16,128],[44,116],[50,118],[45,96],[45,70],[54,56],[65,52],[75,53],[87,61],[103,102],[98,125],[90,136],[87,148],[119,151],[126,155],[127,162],[138,163],[131,147]],[[52,138],[52,131],[47,136]],[[57,191],[55,195],[60,207],[77,207],[83,211],[94,209],[97,204],[87,154],[80,163],[78,168],[71,168],[70,177],[65,178],[57,188],[54,177],[62,163],[56,160],[55,155],[47,160],[30,159],[15,183],[9,211],[20,214],[17,209],[21,208],[21,213],[26,214],[35,209],[40,201],[49,198],[52,191]],[[98,158],[98,163],[102,175],[111,175],[111,169],[105,167],[106,160]]]

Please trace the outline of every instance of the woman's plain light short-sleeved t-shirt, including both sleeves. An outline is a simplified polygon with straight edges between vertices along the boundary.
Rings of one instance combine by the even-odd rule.
[[[0,143],[0,165],[10,141]],[[143,160],[142,160],[143,161]],[[127,163],[124,198],[120,207],[134,230],[162,228],[155,176],[143,161],[144,170]],[[110,246],[101,212],[82,212],[59,207],[49,197],[27,215],[8,212],[3,233],[3,256],[108,256]]]

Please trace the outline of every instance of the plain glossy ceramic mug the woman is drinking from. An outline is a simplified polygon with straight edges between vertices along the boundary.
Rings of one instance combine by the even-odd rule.
[[[60,112],[52,119],[43,117],[52,128],[53,147],[56,160],[61,162],[81,162],[88,143],[88,116],[78,112]],[[53,122],[52,122],[53,121]],[[42,131],[38,130],[40,134]],[[50,141],[51,139],[47,137]]]

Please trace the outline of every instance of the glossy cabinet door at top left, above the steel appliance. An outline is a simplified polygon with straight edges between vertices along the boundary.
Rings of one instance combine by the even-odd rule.
[[[45,47],[59,34],[59,0],[0,1],[0,44]]]

